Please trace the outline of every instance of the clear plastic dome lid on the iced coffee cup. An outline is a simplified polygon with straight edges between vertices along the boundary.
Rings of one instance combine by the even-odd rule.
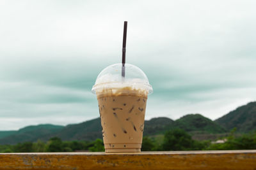
[[[146,74],[139,67],[127,63],[125,63],[125,77],[122,77],[122,63],[103,69],[97,76],[92,92],[96,94],[98,90],[123,87],[146,90],[148,94],[153,92]]]

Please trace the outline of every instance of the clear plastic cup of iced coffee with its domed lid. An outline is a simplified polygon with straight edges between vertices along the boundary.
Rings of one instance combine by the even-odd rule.
[[[132,64],[113,64],[93,85],[97,95],[105,152],[140,152],[148,94],[153,92],[143,71]]]

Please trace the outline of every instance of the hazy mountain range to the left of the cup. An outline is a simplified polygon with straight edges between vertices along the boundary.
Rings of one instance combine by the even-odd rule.
[[[63,141],[85,140],[93,141],[102,138],[100,118],[95,118],[80,124],[67,125],[36,125],[28,126],[16,131],[15,134],[0,139],[0,144],[15,144],[24,141],[35,142],[38,139],[47,141],[52,137],[59,137]]]

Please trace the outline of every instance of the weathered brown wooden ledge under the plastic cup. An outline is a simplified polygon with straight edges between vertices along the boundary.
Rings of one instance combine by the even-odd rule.
[[[256,169],[256,150],[0,153],[0,169]]]

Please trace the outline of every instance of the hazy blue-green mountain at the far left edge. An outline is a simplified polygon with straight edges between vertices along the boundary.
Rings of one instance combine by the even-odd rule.
[[[25,141],[37,141],[38,139],[49,138],[51,134],[61,131],[61,125],[31,125],[14,131],[12,135],[0,139],[0,144],[15,144]],[[2,131],[3,132],[3,131]]]

